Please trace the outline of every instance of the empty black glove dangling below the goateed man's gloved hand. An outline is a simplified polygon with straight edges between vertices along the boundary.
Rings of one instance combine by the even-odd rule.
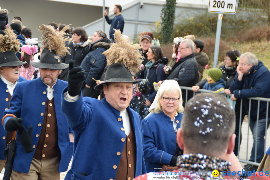
[[[27,132],[23,124],[21,128],[18,130],[19,138],[25,153],[34,151],[32,144],[32,130],[33,126],[30,126]]]

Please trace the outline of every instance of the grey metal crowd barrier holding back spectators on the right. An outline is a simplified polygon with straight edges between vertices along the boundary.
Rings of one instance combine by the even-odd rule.
[[[186,90],[186,93],[185,93],[185,104],[187,103],[187,99],[188,99],[188,91],[191,91],[191,87],[185,87],[185,86],[180,86],[182,90]],[[198,93],[214,93],[214,91],[210,91],[210,90],[205,90],[205,89],[199,89],[198,90]],[[195,96],[195,92],[193,92],[193,96]],[[232,96],[232,94],[224,94],[224,96]],[[257,133],[258,133],[258,123],[259,123],[259,108],[260,108],[260,102],[261,101],[265,101],[267,103],[267,108],[266,108],[266,124],[268,123],[268,114],[269,114],[269,102],[270,102],[270,98],[262,98],[262,97],[252,97],[252,98],[247,98],[249,99],[249,110],[248,110],[248,128],[249,128],[249,124],[250,124],[250,113],[251,113],[251,100],[255,100],[255,101],[258,101],[258,111],[257,111]],[[235,101],[233,101],[235,103]],[[234,106],[234,104],[233,104]],[[241,99],[241,107],[240,107],[240,125],[239,125],[239,138],[238,138],[238,159],[239,159],[239,151],[240,151],[240,139],[241,139],[241,124],[242,124],[242,108],[243,108],[243,100]],[[265,126],[265,142],[264,142],[264,154],[265,154],[265,151],[268,150],[269,146],[270,145],[266,145],[266,140],[267,140],[267,125]],[[243,163],[247,163],[247,164],[252,164],[252,165],[256,165],[256,166],[259,166],[260,164],[257,163],[257,143],[255,145],[255,162],[251,162],[251,161],[248,161],[248,144],[249,144],[249,130],[248,131],[248,137],[247,137],[247,154],[246,154],[246,159],[239,159],[240,162],[243,162]],[[252,137],[252,140],[253,140],[253,135],[251,135]],[[256,141],[258,142],[257,140],[258,138],[258,135],[256,137]],[[242,147],[243,148],[243,147]]]

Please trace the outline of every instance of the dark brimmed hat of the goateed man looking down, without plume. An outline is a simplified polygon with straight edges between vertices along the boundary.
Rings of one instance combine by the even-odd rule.
[[[61,63],[61,56],[57,56],[54,51],[43,49],[40,55],[40,62],[30,62],[32,66],[41,69],[66,69],[69,65]]]

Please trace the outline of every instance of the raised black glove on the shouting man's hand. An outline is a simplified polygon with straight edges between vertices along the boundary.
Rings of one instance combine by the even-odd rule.
[[[83,81],[86,79],[85,70],[82,67],[74,67],[74,61],[69,61],[68,72],[68,93],[70,96],[77,96],[80,94]]]

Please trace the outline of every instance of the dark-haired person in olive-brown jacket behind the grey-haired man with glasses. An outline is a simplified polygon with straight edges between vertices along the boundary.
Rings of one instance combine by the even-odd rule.
[[[204,43],[200,39],[195,39],[194,41],[194,54],[198,63],[198,70],[203,74],[204,66],[209,62],[209,57],[206,53],[203,52]]]

